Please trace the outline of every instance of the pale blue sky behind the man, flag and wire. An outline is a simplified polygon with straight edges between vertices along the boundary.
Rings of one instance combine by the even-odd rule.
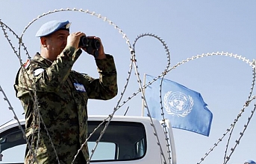
[[[76,8],[90,10],[107,17],[126,34],[131,45],[134,39],[142,33],[152,33],[159,36],[169,47],[171,66],[184,59],[202,53],[228,52],[255,59],[256,53],[256,1],[1,1],[0,19],[17,35],[37,16],[48,13],[49,10],[61,8]],[[30,56],[40,50],[39,39],[35,37],[38,28],[53,19],[68,19],[72,22],[71,32],[78,30],[87,36],[99,36],[102,39],[105,53],[114,56],[118,71],[119,94],[107,102],[89,101],[89,114],[111,114],[121,96],[131,55],[125,39],[113,25],[103,22],[96,16],[87,13],[66,11],[43,16],[25,31],[22,41],[28,48]],[[19,60],[13,53],[3,31],[0,30],[1,69],[0,85],[10,100],[20,119],[23,109],[16,99],[13,82],[19,69]],[[18,40],[8,31],[13,46],[18,50]],[[135,49],[140,78],[147,73],[158,76],[166,68],[166,53],[157,39],[143,37],[139,39]],[[27,59],[21,51],[23,62]],[[92,56],[87,53],[78,59],[73,68],[82,73],[97,77],[96,65]],[[199,163],[205,153],[225,133],[231,123],[240,113],[249,97],[252,88],[252,67],[246,62],[229,56],[208,56],[195,59],[171,70],[166,79],[181,83],[187,88],[202,94],[207,108],[213,113],[210,136],[205,137],[188,131],[173,129],[175,147],[179,164]],[[134,69],[128,88],[122,102],[137,91],[139,85]],[[252,96],[256,92],[253,91]],[[125,103],[116,115],[141,115],[141,95]],[[8,110],[7,102],[0,93],[0,125],[13,118]],[[243,125],[254,108],[255,100],[251,102],[235,126],[228,147],[228,154],[240,137]],[[252,117],[246,133],[231,156],[228,163],[238,164],[244,160],[256,160],[256,119]],[[203,161],[205,164],[223,163],[228,137],[219,143],[214,151]]]

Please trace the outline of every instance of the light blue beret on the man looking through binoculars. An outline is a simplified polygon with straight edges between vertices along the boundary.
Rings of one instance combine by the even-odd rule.
[[[54,33],[57,30],[68,30],[71,23],[69,21],[50,21],[43,24],[40,29],[37,31],[36,36],[48,36],[51,33]]]

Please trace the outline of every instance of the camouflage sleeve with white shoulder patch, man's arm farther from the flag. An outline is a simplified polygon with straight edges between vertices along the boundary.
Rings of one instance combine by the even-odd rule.
[[[28,94],[29,91],[35,89],[41,92],[56,92],[60,85],[66,81],[74,62],[81,55],[81,50],[75,51],[75,47],[66,47],[50,67],[31,62],[28,70],[19,71],[18,82],[15,88],[17,96]]]

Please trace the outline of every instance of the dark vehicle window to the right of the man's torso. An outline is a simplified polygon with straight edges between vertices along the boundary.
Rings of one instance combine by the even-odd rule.
[[[88,134],[91,134],[101,122],[88,122]],[[89,142],[96,142],[99,139],[103,124],[90,137]],[[118,122],[113,121],[99,142],[102,147],[97,147],[96,151],[104,152],[107,157],[94,157],[95,161],[111,160],[138,160],[146,154],[146,131],[140,122]],[[109,145],[109,147],[107,147]],[[89,151],[92,148],[89,146]]]

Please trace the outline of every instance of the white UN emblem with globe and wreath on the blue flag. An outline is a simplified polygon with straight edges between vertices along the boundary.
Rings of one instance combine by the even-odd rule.
[[[167,114],[186,117],[193,109],[194,100],[182,92],[169,91],[164,95],[163,105]]]

